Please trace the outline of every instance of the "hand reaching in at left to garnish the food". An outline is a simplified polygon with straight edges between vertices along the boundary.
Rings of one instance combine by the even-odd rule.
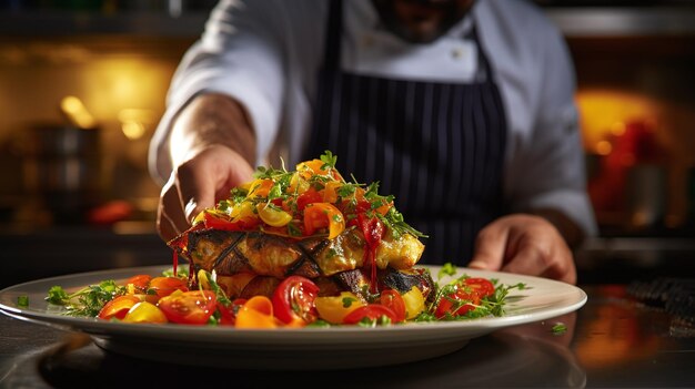
[[[229,191],[249,182],[253,168],[239,153],[211,145],[174,168],[162,187],[157,229],[169,242],[191,226],[204,208],[229,197]]]

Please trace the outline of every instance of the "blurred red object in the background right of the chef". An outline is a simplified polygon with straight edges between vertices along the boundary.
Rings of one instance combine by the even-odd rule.
[[[627,173],[636,164],[659,164],[662,149],[654,127],[643,120],[625,124],[616,136],[613,151],[602,161],[598,175],[588,183],[588,193],[597,212],[622,212],[625,208]]]

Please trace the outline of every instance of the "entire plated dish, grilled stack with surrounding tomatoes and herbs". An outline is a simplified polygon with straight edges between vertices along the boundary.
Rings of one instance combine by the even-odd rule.
[[[417,266],[425,236],[405,223],[394,197],[377,183],[345,181],[335,161],[326,151],[294,171],[256,170],[168,243],[177,258],[171,274],[73,293],[56,286],[48,300],[125,323],[377,326],[501,316],[507,293],[524,288],[466,274],[440,285]],[[188,260],[185,272],[178,258]]]

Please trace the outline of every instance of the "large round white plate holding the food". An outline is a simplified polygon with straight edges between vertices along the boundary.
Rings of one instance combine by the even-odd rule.
[[[463,321],[413,323],[379,328],[234,329],[182,325],[103,321],[62,315],[44,297],[51,286],[66,289],[125,279],[135,274],[161,275],[170,266],[122,268],[74,274],[19,284],[0,291],[6,315],[83,331],[102,348],[139,358],[178,364],[245,369],[344,369],[411,362],[461,349],[466,342],[501,328],[534,323],[581,308],[586,294],[572,285],[506,273],[460,268],[472,277],[496,278],[502,284],[525,283],[514,289],[503,317]],[[436,279],[440,267],[426,266]],[[446,278],[441,283],[446,281]],[[29,297],[19,308],[18,297]]]

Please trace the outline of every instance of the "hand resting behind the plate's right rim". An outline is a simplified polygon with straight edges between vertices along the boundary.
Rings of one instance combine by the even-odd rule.
[[[501,217],[483,228],[469,267],[576,283],[574,257],[546,218],[530,214]]]

